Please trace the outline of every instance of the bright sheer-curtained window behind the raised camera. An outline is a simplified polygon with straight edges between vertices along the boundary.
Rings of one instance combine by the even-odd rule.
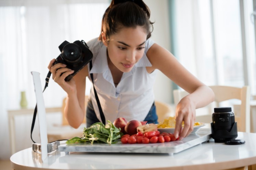
[[[34,86],[30,72],[41,73],[44,87],[47,66],[61,53],[58,46],[65,40],[87,42],[98,37],[108,6],[108,0],[0,1],[0,71],[4,73],[1,75],[5,82],[0,93],[5,96],[2,97],[4,105],[19,108],[20,97],[17,96],[26,91],[28,107],[33,108],[36,99],[31,90]],[[87,86],[87,93],[89,90]],[[44,92],[45,105],[61,106],[65,96],[59,85],[50,79]]]

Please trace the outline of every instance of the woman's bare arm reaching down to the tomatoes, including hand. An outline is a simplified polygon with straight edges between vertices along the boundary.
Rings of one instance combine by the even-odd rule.
[[[178,86],[190,93],[182,98],[176,107],[175,137],[177,138],[180,135],[180,139],[182,139],[193,130],[195,109],[213,102],[214,93],[212,89],[193,76],[163,47],[153,44],[146,55],[152,64],[152,67],[147,68],[149,73],[154,69],[159,69]],[[184,121],[183,129],[182,121]]]

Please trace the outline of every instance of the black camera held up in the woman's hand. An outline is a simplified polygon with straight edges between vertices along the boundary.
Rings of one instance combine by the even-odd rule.
[[[83,40],[77,40],[74,43],[64,41],[59,46],[59,49],[61,54],[56,58],[56,61],[53,63],[53,65],[57,63],[63,63],[67,65],[67,68],[74,70],[74,73],[68,75],[65,78],[65,81],[69,81],[92,60],[92,52],[89,50],[89,47]]]

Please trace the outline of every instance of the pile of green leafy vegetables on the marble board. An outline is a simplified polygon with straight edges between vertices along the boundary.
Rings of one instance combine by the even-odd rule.
[[[81,138],[74,137],[66,141],[66,144],[72,143],[86,143],[86,142],[97,142],[97,143],[117,143],[123,133],[120,132],[120,128],[115,127],[109,120],[104,125],[101,122],[92,124],[88,128],[84,128],[83,136]]]

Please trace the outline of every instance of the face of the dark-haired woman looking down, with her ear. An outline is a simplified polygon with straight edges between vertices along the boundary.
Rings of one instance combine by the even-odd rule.
[[[102,37],[104,45],[107,46],[110,61],[121,72],[130,72],[144,54],[147,37],[144,28],[124,28],[111,35],[107,42],[104,41],[105,36]]]

